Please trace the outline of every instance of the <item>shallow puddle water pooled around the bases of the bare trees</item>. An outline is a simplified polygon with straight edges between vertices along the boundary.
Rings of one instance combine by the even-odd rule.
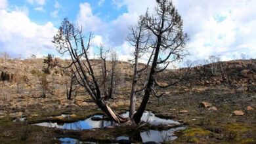
[[[121,114],[123,117],[129,117],[129,112]],[[61,115],[58,117],[70,118],[70,115]],[[149,111],[145,111],[141,118],[142,121],[150,123],[152,126],[169,125],[169,124],[180,124],[177,121],[169,120],[165,118],[159,118]],[[79,120],[77,122],[62,123],[62,122],[42,122],[34,124],[37,126],[48,126],[51,128],[60,128],[65,130],[89,130],[93,128],[104,128],[107,126],[114,126],[116,123],[108,120],[103,115],[94,115],[85,120]],[[131,132],[130,134],[120,134],[113,141],[114,143],[163,143],[165,141],[173,141],[178,137],[174,135],[174,132],[178,130],[184,130],[186,127],[180,126],[176,128],[169,128],[167,130],[144,130]],[[82,142],[78,139],[71,137],[62,137],[58,139],[60,143],[94,143],[94,142]]]

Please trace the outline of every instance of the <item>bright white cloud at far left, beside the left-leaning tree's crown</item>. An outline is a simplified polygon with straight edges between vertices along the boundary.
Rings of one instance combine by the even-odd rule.
[[[57,29],[51,22],[35,24],[21,11],[0,10],[0,17],[1,52],[12,56],[22,54],[24,57],[55,52],[51,41]]]

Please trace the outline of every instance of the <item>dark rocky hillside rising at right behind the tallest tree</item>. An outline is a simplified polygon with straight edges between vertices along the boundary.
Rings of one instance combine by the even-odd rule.
[[[196,67],[169,71],[166,79],[178,79],[186,75],[183,86],[217,86],[225,85],[238,91],[256,91],[256,60],[234,60],[209,63]]]

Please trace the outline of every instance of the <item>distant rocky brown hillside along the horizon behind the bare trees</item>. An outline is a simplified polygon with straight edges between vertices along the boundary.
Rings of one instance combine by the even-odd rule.
[[[58,60],[58,62],[64,63],[63,60]],[[93,60],[93,62],[99,63],[98,60]],[[7,60],[7,62],[1,62],[0,81],[27,84],[36,83],[37,78],[35,75],[32,75],[32,71],[35,69],[42,70],[44,66],[43,59]],[[110,69],[111,62],[107,62],[107,67]],[[94,68],[96,69],[96,75],[100,75],[100,64]],[[116,69],[119,84],[125,85],[127,82],[131,82],[133,77],[131,63],[118,62]],[[186,78],[180,84],[186,86],[225,84],[244,90],[256,90],[256,60],[234,60],[209,63],[207,65],[191,67],[190,69],[168,70],[164,73],[164,77],[160,78],[162,81],[167,80],[163,82],[168,82],[177,80],[184,75],[186,75]],[[53,82],[63,83],[63,77],[65,77],[63,71],[58,67],[54,67],[49,79]]]

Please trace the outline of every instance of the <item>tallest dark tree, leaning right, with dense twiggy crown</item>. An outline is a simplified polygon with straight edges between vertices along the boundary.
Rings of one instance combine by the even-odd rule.
[[[136,123],[140,122],[150,94],[159,97],[154,89],[155,84],[159,88],[166,88],[178,82],[171,82],[162,86],[158,84],[156,75],[167,69],[169,63],[175,62],[184,56],[182,52],[184,52],[187,40],[187,35],[182,31],[181,16],[169,0],[158,0],[155,12],[153,14],[146,12],[146,15],[142,17],[142,24],[152,33],[154,54],[142,102],[133,115],[133,120]],[[160,65],[163,65],[162,68],[157,69]]]

